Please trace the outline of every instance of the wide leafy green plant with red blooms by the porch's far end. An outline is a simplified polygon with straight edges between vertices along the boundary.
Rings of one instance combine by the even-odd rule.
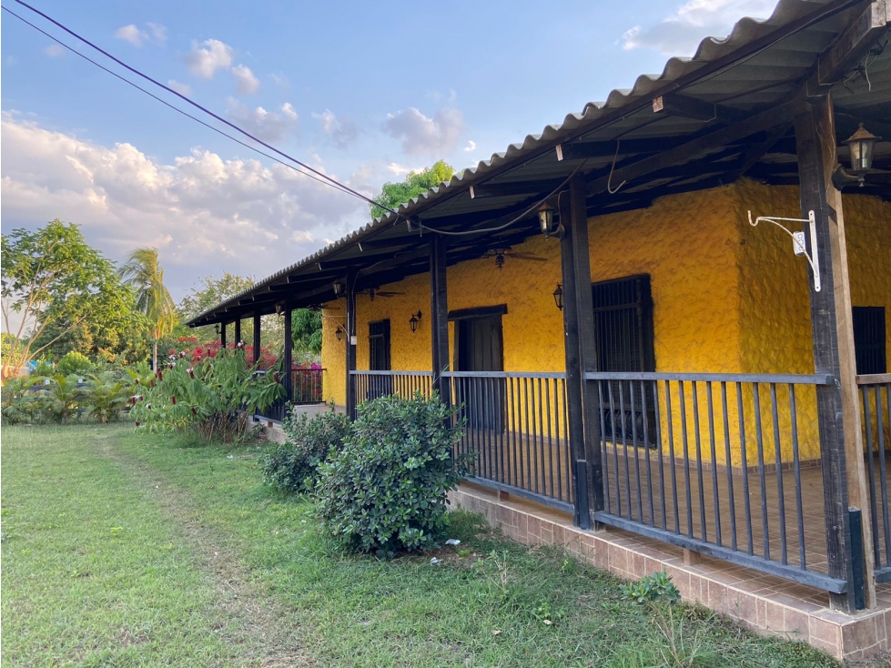
[[[243,441],[248,417],[266,410],[284,389],[244,349],[174,351],[150,379],[135,379],[130,417],[137,427],[177,431],[200,440]]]

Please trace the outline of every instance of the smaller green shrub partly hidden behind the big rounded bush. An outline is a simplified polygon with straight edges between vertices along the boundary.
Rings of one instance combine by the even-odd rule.
[[[282,429],[287,440],[263,459],[263,480],[278,491],[299,494],[312,491],[319,481],[319,464],[343,447],[351,424],[343,413],[289,413]]]

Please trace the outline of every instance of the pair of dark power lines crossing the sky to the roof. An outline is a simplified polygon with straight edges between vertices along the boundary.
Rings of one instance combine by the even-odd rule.
[[[88,39],[86,39],[86,37],[83,37],[83,36],[81,36],[81,35],[78,35],[78,34],[77,34],[74,30],[72,30],[71,28],[67,27],[66,25],[63,25],[62,23],[59,23],[59,22],[56,21],[56,19],[53,18],[52,16],[50,16],[50,15],[46,15],[44,12],[41,12],[39,9],[37,9],[37,8],[31,6],[31,5],[28,5],[27,3],[23,2],[22,0],[15,0],[15,2],[16,2],[17,4],[22,5],[23,7],[25,7],[25,9],[28,9],[29,11],[34,12],[36,15],[42,16],[42,17],[45,18],[47,21],[49,21],[51,24],[56,25],[56,27],[59,27],[59,28],[61,28],[62,30],[64,30],[66,33],[68,33],[68,35],[72,35],[72,36],[75,37],[78,41],[83,42],[84,44],[86,44],[86,46],[89,46],[90,48],[92,48],[92,49],[98,51],[98,52],[99,52],[100,54],[102,54],[103,56],[106,56],[107,58],[110,58],[111,60],[113,60],[114,62],[116,62],[117,65],[124,67],[125,69],[127,69],[127,70],[130,71],[130,72],[132,72],[132,73],[135,74],[136,76],[140,76],[141,78],[146,79],[147,81],[149,81],[150,83],[154,84],[155,86],[158,86],[158,87],[160,87],[160,88],[163,88],[164,90],[167,91],[167,93],[170,93],[171,95],[175,95],[175,96],[179,97],[181,100],[187,102],[187,104],[189,104],[189,105],[191,105],[191,106],[195,106],[197,109],[200,109],[200,110],[203,111],[205,114],[208,114],[208,116],[212,116],[213,118],[215,118],[216,120],[218,120],[218,122],[223,123],[224,125],[226,125],[226,126],[228,126],[228,127],[231,127],[232,129],[234,129],[234,130],[236,130],[237,132],[241,133],[241,134],[244,135],[245,137],[248,137],[249,139],[251,139],[251,140],[257,142],[260,146],[268,148],[268,149],[269,149],[270,151],[272,151],[273,153],[277,153],[279,156],[284,157],[284,158],[290,160],[291,162],[295,163],[296,165],[299,165],[299,167],[303,167],[304,169],[308,170],[308,171],[311,172],[312,174],[316,175],[316,177],[319,177],[319,178],[317,178],[317,180],[320,180],[320,179],[321,179],[323,183],[328,183],[328,184],[331,185],[332,187],[337,187],[337,188],[338,188],[339,190],[341,190],[342,192],[349,193],[349,195],[352,195],[353,197],[358,197],[359,199],[363,200],[364,202],[367,202],[367,203],[370,204],[370,205],[374,205],[374,206],[376,206],[376,207],[380,207],[380,208],[383,208],[383,209],[385,209],[385,210],[387,210],[387,211],[390,211],[390,213],[395,214],[395,215],[398,216],[399,218],[405,218],[405,217],[402,216],[398,211],[394,211],[394,210],[391,209],[390,207],[383,207],[383,206],[381,206],[379,202],[376,202],[376,201],[374,201],[373,199],[371,199],[370,197],[366,197],[365,195],[362,195],[359,191],[354,190],[353,188],[351,188],[351,187],[349,187],[349,186],[346,186],[346,185],[340,183],[336,178],[329,177],[329,176],[328,176],[327,174],[325,174],[324,172],[321,172],[321,171],[319,171],[318,169],[315,169],[315,168],[313,168],[313,167],[309,167],[309,165],[307,165],[306,163],[301,162],[301,161],[298,160],[296,157],[289,156],[289,155],[288,155],[287,153],[285,153],[284,151],[281,151],[281,150],[279,150],[278,148],[273,147],[273,146],[267,144],[267,143],[266,143],[265,141],[263,141],[262,139],[258,139],[258,137],[254,137],[254,136],[251,135],[247,130],[245,130],[245,129],[241,128],[241,127],[238,127],[236,124],[234,124],[234,123],[232,123],[232,122],[226,120],[226,119],[223,118],[222,116],[218,116],[218,114],[215,114],[213,111],[211,111],[210,109],[208,109],[208,108],[205,107],[205,106],[201,106],[201,105],[199,105],[197,102],[195,102],[194,100],[189,99],[187,96],[184,96],[184,95],[182,95],[181,93],[177,93],[177,91],[174,90],[173,88],[171,88],[171,87],[169,87],[169,86],[165,86],[165,85],[162,84],[160,81],[157,81],[157,79],[155,79],[155,78],[153,78],[153,77],[151,77],[151,76],[148,76],[147,74],[145,74],[145,73],[141,72],[140,70],[138,70],[136,67],[132,67],[132,66],[127,65],[127,63],[125,63],[124,61],[120,60],[119,58],[116,58],[116,56],[112,56],[111,54],[109,54],[109,53],[108,53],[105,49],[103,49],[102,47],[100,47],[100,46],[96,46],[95,44],[93,44],[91,41],[89,41]],[[10,14],[14,15],[16,18],[19,18],[19,19],[21,19],[22,21],[25,21],[24,18],[22,18],[22,17],[19,16],[19,15],[15,15],[15,13],[13,13],[12,11],[10,11],[9,9],[6,9],[6,7],[3,7],[3,8],[4,8],[7,12],[9,12]],[[59,40],[57,40],[57,39],[56,39],[55,37],[53,37],[52,35],[49,35],[49,34],[46,33],[45,31],[43,31],[43,30],[41,30],[40,28],[38,28],[36,25],[31,24],[31,23],[29,23],[28,21],[25,21],[25,23],[28,24],[28,25],[31,25],[31,26],[34,27],[36,30],[39,30],[41,33],[43,33],[44,35],[50,37],[51,39],[53,39],[54,41],[56,41],[58,44],[60,44],[60,45],[62,45],[62,46],[65,46],[68,50],[73,51],[73,52],[76,53],[78,56],[83,56],[83,54],[80,54],[80,53],[77,52],[75,49],[71,48],[70,46],[67,46],[66,44],[64,44],[64,43],[62,43],[62,42],[60,42]],[[177,107],[172,106],[172,105],[169,105],[167,102],[164,102],[164,100],[161,100],[159,97],[154,96],[154,95],[152,95],[151,93],[148,93],[147,90],[145,90],[144,88],[141,88],[140,86],[137,86],[136,84],[133,84],[132,82],[130,82],[129,80],[127,80],[127,79],[124,78],[123,76],[117,75],[116,73],[112,72],[111,70],[108,70],[106,67],[99,65],[98,63],[96,63],[96,61],[91,60],[90,58],[87,58],[86,56],[83,56],[83,57],[86,58],[86,60],[88,60],[89,62],[93,63],[94,65],[99,66],[99,67],[102,67],[102,69],[104,69],[104,70],[105,70],[106,72],[108,72],[109,74],[113,74],[113,75],[117,76],[118,78],[120,78],[120,79],[126,81],[126,82],[127,82],[128,84],[130,84],[131,86],[135,86],[135,87],[137,87],[139,90],[142,90],[144,93],[147,93],[147,95],[154,97],[154,98],[157,99],[159,102],[163,102],[163,103],[166,104],[167,106],[170,106],[170,107],[173,108],[173,109],[177,109]],[[208,124],[206,124],[206,123],[204,123],[204,122],[198,120],[197,118],[195,118],[195,116],[188,115],[188,114],[186,114],[185,112],[181,111],[180,109],[177,109],[177,111],[179,111],[180,113],[184,114],[185,116],[188,116],[189,118],[192,118],[193,120],[197,120],[197,122],[201,123],[202,125],[204,125],[204,126],[206,126],[206,127],[211,127],[211,126],[208,126]],[[211,129],[214,129],[215,131],[220,132],[217,128],[211,127]],[[220,134],[224,135],[225,137],[229,137],[226,133],[222,133],[222,132],[220,132]],[[234,139],[234,137],[229,137],[229,138],[233,138],[233,139]],[[238,139],[235,139],[235,141],[238,141]],[[240,141],[238,141],[238,143],[239,143],[239,144],[242,144],[242,146],[248,146],[248,145],[246,145],[246,144],[243,144],[243,143],[240,142]],[[252,148],[252,149],[253,149],[253,147],[249,147],[249,146],[248,146],[248,148]],[[257,150],[257,149],[253,149],[253,150]],[[258,153],[261,153],[261,152],[258,151]],[[276,158],[271,158],[271,159],[276,159]],[[277,160],[277,161],[280,162],[280,160]],[[298,170],[298,171],[299,171],[299,170]],[[301,173],[304,173],[304,174],[305,174],[305,172],[301,172]],[[309,174],[307,174],[307,176],[309,176]],[[407,219],[407,218],[406,218],[406,219]]]

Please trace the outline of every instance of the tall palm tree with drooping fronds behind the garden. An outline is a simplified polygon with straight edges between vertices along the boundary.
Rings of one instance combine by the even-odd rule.
[[[167,336],[177,324],[176,303],[164,285],[164,269],[157,261],[157,248],[136,248],[117,270],[118,276],[137,293],[137,309],[151,323],[155,340],[153,369],[157,369],[157,339]]]

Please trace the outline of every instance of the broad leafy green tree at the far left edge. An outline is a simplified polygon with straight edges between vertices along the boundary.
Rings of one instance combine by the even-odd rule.
[[[2,238],[0,264],[4,381],[77,331],[127,319],[131,295],[114,263],[74,224],[56,218],[33,232],[14,229]]]

